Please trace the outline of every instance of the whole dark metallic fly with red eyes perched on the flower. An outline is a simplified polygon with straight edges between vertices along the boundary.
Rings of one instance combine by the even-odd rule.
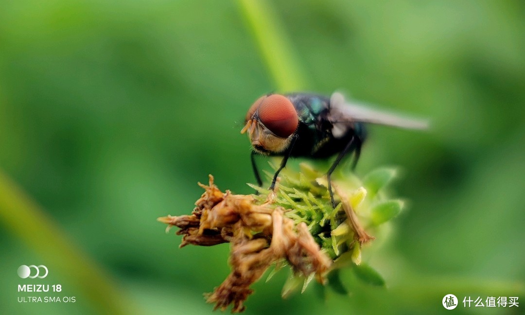
[[[328,190],[334,207],[330,177],[348,154],[354,154],[352,169],[355,168],[366,138],[366,123],[406,129],[427,128],[423,120],[373,110],[346,101],[339,92],[333,93],[330,98],[309,93],[268,94],[253,103],[245,123],[241,133],[248,132],[253,146],[251,165],[259,186],[262,180],[255,163],[256,154],[283,156],[272,178],[271,190],[274,190],[277,176],[290,157],[327,159],[337,154],[327,173]]]

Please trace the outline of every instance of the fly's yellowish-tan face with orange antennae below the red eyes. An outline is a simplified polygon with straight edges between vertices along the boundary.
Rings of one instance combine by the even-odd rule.
[[[290,145],[293,134],[287,138],[278,137],[258,120],[252,120],[251,125],[255,127],[248,129],[248,137],[256,152],[264,155],[282,153]]]

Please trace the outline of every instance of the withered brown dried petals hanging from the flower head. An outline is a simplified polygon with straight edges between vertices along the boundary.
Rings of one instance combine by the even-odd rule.
[[[211,246],[231,244],[232,272],[212,293],[207,302],[215,309],[225,310],[233,303],[232,312],[245,309],[243,303],[257,281],[274,262],[286,259],[293,270],[308,277],[315,274],[323,283],[323,275],[332,260],[314,241],[304,223],[297,226],[283,214],[285,209],[272,206],[272,198],[256,205],[253,196],[221,192],[209,175],[209,186],[199,183],[205,192],[195,203],[192,215],[167,216],[160,222],[177,226],[184,235],[180,247],[187,244]],[[270,195],[271,196],[271,195]]]

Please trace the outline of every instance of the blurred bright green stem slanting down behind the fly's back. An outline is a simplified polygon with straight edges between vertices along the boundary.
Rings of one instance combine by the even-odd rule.
[[[308,88],[298,55],[274,8],[258,0],[239,0],[239,5],[277,88],[286,92]]]

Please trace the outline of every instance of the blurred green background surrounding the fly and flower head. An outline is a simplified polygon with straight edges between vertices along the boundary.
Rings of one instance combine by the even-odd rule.
[[[156,218],[189,214],[202,193],[196,182],[209,173],[222,189],[251,193],[244,115],[260,95],[289,87],[349,91],[428,117],[432,129],[371,127],[356,170],[404,170],[392,187],[409,209],[386,242],[377,240],[384,246],[364,249],[386,289],[343,271],[349,296],[317,298],[310,288],[282,300],[281,271],[254,285],[246,314],[437,313],[447,293],[522,302],[523,2],[262,8],[250,15],[235,1],[0,3],[3,313],[210,313],[202,293],[227,276],[228,246],[178,249],[180,236],[166,235]],[[259,38],[266,53],[254,23],[269,36]],[[281,74],[271,70],[279,58],[289,58]],[[24,264],[44,264],[49,276],[20,279]],[[45,296],[17,292],[24,283],[60,283],[59,296],[76,302],[19,303]],[[462,303],[455,310],[475,311]]]

